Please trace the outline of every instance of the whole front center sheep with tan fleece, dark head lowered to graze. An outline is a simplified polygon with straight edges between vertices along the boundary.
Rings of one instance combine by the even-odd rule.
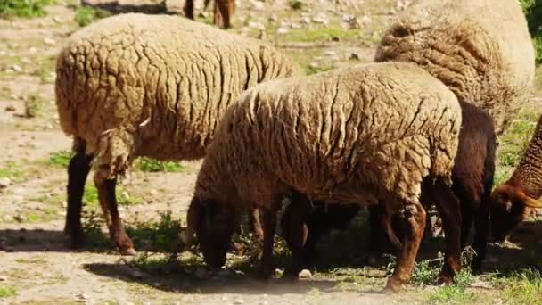
[[[410,279],[425,227],[423,179],[451,183],[460,124],[456,96],[409,63],[260,84],[220,120],[198,173],[186,235],[195,232],[206,263],[220,268],[236,210],[255,202],[264,227],[259,274],[268,278],[276,210],[292,190],[333,204],[386,199],[387,209],[401,210],[410,228],[387,284],[398,291]]]

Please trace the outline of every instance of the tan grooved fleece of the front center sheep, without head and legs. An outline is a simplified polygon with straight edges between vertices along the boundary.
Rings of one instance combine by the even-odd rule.
[[[253,196],[265,193],[267,177],[322,199],[382,181],[386,190],[408,188],[398,185],[406,176],[450,177],[460,123],[456,96],[412,64],[274,80],[226,112],[206,160],[220,165],[202,171],[226,167],[240,193]]]

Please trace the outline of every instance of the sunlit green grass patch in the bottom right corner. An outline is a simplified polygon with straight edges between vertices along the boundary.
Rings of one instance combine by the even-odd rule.
[[[538,304],[542,298],[542,275],[536,268],[516,271],[497,279],[497,283],[503,287],[503,299],[510,304]]]

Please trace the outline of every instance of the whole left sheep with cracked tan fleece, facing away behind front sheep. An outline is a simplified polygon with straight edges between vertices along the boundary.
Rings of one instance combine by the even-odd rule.
[[[270,45],[181,17],[127,13],[75,33],[58,55],[55,80],[60,125],[74,137],[65,227],[72,246],[82,241],[91,168],[111,239],[135,254],[117,210],[117,177],[139,156],[200,159],[242,91],[300,74]]]

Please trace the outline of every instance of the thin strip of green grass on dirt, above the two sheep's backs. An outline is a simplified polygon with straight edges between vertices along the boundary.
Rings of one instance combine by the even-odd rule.
[[[298,42],[324,42],[333,38],[354,39],[358,37],[356,29],[342,29],[340,26],[330,25],[317,29],[292,29],[285,38],[289,41]]]

